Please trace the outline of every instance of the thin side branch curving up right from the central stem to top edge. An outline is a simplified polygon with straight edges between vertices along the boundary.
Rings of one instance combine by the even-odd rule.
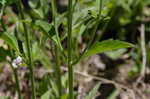
[[[91,40],[88,42],[86,48],[83,50],[83,52],[81,53],[79,58],[77,58],[77,60],[75,60],[72,63],[72,65],[77,64],[80,61],[80,59],[82,58],[82,56],[85,54],[85,52],[92,46],[92,44],[94,42],[94,38],[96,36],[96,31],[97,31],[97,28],[98,28],[98,25],[99,25],[99,21],[101,20],[101,12],[102,12],[102,0],[99,1],[99,14],[98,14],[98,17],[96,19],[96,23],[95,23],[94,29],[92,31]]]

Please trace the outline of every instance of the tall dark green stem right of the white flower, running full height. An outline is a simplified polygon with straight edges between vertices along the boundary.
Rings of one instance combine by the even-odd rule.
[[[17,6],[18,6],[19,13],[20,13],[20,17],[22,20],[25,20],[21,0],[18,0],[18,3],[19,4],[17,4]],[[22,24],[24,27],[25,43],[26,43],[27,56],[28,56],[27,64],[29,65],[29,70],[30,70],[32,99],[36,99],[35,85],[34,85],[33,61],[32,61],[32,56],[31,56],[31,49],[30,49],[31,44],[30,44],[30,39],[29,39],[29,32],[28,32],[26,24],[24,22]]]

